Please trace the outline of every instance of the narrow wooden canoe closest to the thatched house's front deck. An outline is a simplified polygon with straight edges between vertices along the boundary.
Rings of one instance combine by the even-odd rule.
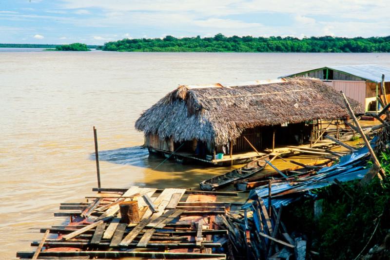
[[[271,156],[272,157],[272,156]],[[207,191],[214,191],[217,190],[223,186],[226,186],[235,180],[245,179],[248,178],[255,173],[261,171],[265,168],[267,163],[265,160],[269,160],[270,155],[263,156],[261,158],[255,159],[245,166],[235,169],[231,172],[215,176],[209,180],[203,180],[199,183],[200,189],[207,190]]]

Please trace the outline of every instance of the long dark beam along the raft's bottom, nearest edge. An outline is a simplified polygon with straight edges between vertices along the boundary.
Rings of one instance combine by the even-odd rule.
[[[20,251],[17,253],[19,258],[31,258],[34,252]],[[202,253],[176,253],[176,252],[137,252],[137,251],[46,251],[41,252],[42,257],[98,257],[98,258],[125,258],[138,257],[141,259],[156,258],[156,259],[226,259],[225,254],[202,254]]]

